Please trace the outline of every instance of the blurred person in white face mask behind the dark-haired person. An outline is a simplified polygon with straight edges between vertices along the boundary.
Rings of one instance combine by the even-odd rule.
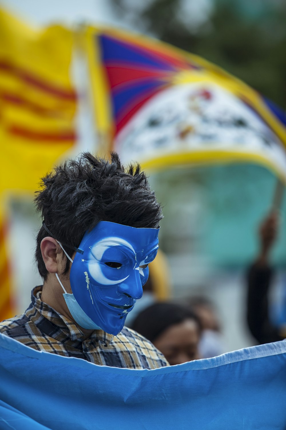
[[[185,303],[196,314],[202,326],[202,336],[199,342],[200,356],[211,358],[226,352],[220,320],[214,303],[205,296],[188,298]]]

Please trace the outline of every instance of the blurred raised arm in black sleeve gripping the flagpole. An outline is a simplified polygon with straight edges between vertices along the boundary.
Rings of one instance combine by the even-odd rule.
[[[278,327],[271,322],[268,302],[274,277],[270,254],[277,238],[278,221],[277,212],[271,212],[262,221],[259,253],[247,272],[247,323],[259,344],[281,341],[286,337],[286,326]],[[286,313],[286,309],[284,311]]]

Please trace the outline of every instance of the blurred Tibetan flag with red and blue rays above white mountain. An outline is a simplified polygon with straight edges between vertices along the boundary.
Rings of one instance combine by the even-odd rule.
[[[258,163],[286,182],[286,118],[258,92],[157,40],[91,27],[85,40],[105,151],[147,169]]]

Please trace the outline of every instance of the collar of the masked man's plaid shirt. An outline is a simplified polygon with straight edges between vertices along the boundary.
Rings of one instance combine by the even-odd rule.
[[[63,316],[61,313],[54,310],[48,304],[41,300],[42,295],[42,285],[36,286],[33,288],[31,292],[31,300],[33,307],[48,321],[52,322],[55,326],[59,327],[59,329],[67,335],[72,341],[80,341],[83,342],[87,340],[85,338],[85,334],[81,331],[81,329],[76,326],[74,322],[70,319]],[[31,317],[31,320],[35,319],[33,322],[36,324],[37,316]],[[88,340],[101,341],[104,344],[110,344],[113,335],[110,335],[103,330],[94,330]]]

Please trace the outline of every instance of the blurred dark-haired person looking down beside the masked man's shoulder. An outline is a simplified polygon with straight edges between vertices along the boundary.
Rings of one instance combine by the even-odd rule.
[[[171,365],[201,358],[198,351],[199,319],[180,304],[159,302],[151,305],[137,315],[132,329],[151,341]]]

